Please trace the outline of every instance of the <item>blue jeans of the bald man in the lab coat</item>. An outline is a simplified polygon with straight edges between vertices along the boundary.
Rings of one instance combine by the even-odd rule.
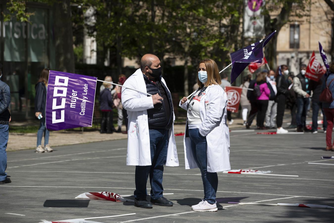
[[[166,129],[149,130],[152,165],[136,166],[134,195],[137,200],[146,200],[148,176],[150,176],[151,199],[159,199],[163,196],[162,174],[167,159],[168,131]]]

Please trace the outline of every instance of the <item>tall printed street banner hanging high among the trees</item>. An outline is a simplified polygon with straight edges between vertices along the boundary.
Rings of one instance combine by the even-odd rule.
[[[259,37],[265,35],[265,19],[261,14],[264,0],[244,0],[243,36]]]

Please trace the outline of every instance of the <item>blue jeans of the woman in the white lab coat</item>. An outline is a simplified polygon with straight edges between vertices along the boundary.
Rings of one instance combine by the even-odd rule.
[[[192,155],[202,174],[204,200],[209,204],[214,204],[216,202],[218,176],[217,173],[207,172],[206,137],[199,134],[198,128],[189,129],[189,137]]]

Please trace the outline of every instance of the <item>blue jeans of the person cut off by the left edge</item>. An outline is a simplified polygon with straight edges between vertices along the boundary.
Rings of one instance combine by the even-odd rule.
[[[5,173],[7,169],[7,142],[8,142],[8,125],[0,124],[0,181],[7,178]]]

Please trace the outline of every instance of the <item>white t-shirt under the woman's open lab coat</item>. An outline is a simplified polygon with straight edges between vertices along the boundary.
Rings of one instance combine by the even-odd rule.
[[[200,91],[197,91],[195,95],[198,95]],[[189,128],[199,128],[201,125],[201,117],[199,114],[199,101],[204,95],[196,96],[188,106],[187,118]]]

